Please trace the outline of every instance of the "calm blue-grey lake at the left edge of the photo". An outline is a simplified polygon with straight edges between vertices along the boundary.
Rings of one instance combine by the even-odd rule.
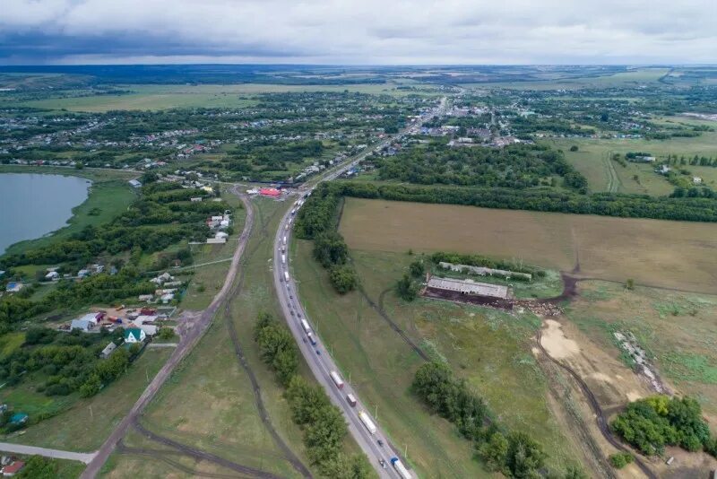
[[[78,177],[0,173],[0,254],[13,243],[65,226],[90,185]]]

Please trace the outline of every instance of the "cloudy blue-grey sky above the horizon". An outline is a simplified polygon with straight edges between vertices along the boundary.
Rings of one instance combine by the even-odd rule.
[[[0,0],[0,64],[717,63],[717,0]]]

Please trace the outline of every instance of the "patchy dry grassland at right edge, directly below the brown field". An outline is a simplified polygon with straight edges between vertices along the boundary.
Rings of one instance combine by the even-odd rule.
[[[566,317],[616,357],[613,331],[631,331],[663,379],[717,416],[717,296],[582,282]]]

